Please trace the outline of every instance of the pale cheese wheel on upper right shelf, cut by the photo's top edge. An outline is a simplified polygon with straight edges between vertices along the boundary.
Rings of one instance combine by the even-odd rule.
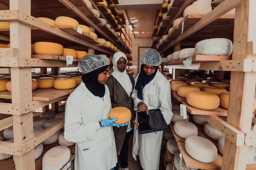
[[[183,11],[183,17],[186,17],[189,14],[206,15],[212,10],[211,2],[211,0],[198,0],[193,2],[192,5],[185,8]]]

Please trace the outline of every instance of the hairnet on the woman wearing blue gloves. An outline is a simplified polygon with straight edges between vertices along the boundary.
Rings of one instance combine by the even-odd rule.
[[[87,74],[106,65],[110,65],[110,60],[107,59],[106,55],[85,55],[78,62],[78,69],[83,74]]]

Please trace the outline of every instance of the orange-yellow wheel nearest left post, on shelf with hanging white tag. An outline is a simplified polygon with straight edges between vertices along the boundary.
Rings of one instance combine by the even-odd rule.
[[[33,45],[36,55],[63,55],[63,46],[54,42],[36,42]]]

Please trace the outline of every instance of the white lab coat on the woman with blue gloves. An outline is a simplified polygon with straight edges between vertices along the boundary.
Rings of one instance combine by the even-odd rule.
[[[83,82],[70,94],[65,106],[65,139],[75,142],[75,170],[110,170],[117,163],[112,127],[101,128],[99,121],[108,118],[110,91],[94,96]]]

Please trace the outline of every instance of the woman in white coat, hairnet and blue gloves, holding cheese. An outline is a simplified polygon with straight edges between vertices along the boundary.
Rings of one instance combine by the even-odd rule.
[[[86,55],[78,69],[84,75],[70,94],[65,107],[65,139],[75,142],[75,170],[110,170],[117,163],[114,133],[110,120],[110,61],[105,55]],[[118,125],[119,126],[119,125]]]

